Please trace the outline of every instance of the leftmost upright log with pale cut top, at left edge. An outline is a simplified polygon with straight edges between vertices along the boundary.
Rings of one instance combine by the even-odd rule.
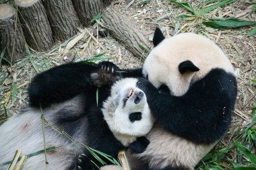
[[[25,41],[17,13],[11,5],[0,5],[0,54],[5,49],[7,60],[13,63],[25,53]]]

